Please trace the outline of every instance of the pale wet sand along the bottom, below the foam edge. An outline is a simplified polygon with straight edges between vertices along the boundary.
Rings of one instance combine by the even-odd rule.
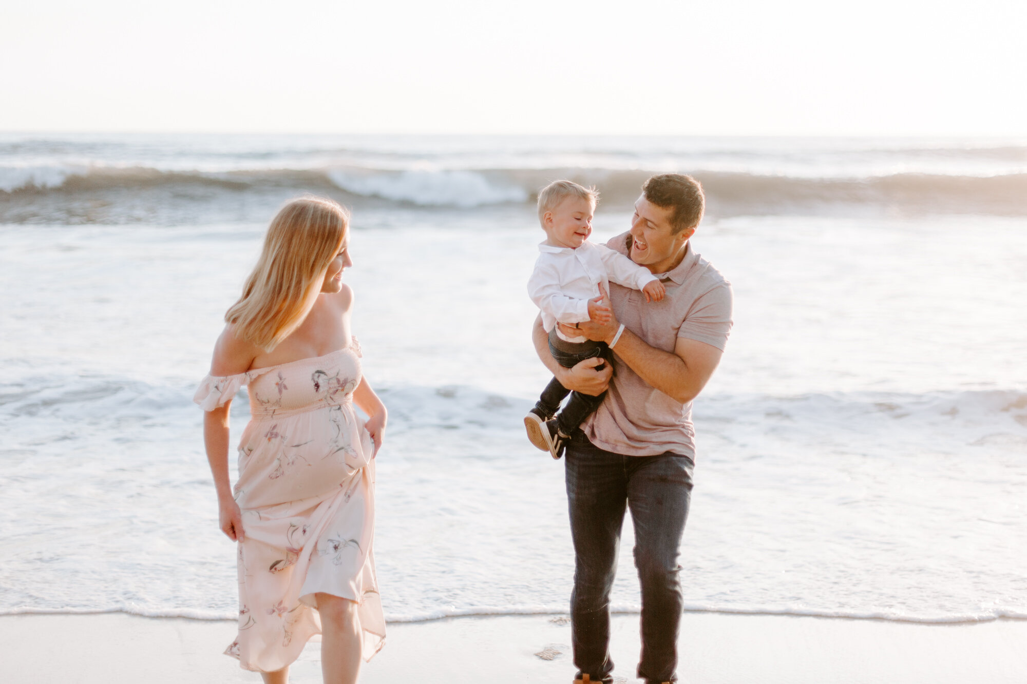
[[[4,679],[35,684],[259,682],[221,654],[231,621],[123,613],[0,617]],[[464,617],[389,625],[360,681],[567,684],[570,624],[549,615]],[[682,682],[772,684],[1023,682],[1027,620],[923,624],[777,615],[686,613]],[[320,681],[318,643],[293,666],[294,684]],[[636,681],[638,615],[615,615],[617,682]]]

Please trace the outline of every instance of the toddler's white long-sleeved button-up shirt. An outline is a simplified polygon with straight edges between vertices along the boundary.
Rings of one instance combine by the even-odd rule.
[[[657,279],[648,268],[588,240],[576,250],[541,242],[538,252],[535,270],[528,278],[528,296],[541,310],[546,332],[553,330],[558,320],[564,324],[588,320],[588,300],[599,297],[600,283],[609,293],[610,280],[641,290]],[[584,338],[570,341],[578,339]]]

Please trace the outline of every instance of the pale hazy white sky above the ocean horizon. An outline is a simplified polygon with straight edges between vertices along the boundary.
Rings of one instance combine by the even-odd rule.
[[[1027,135],[1024,0],[0,8],[0,130]]]

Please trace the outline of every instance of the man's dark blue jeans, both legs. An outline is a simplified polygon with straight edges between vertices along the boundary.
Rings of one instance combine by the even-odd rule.
[[[571,633],[578,678],[611,682],[610,588],[625,504],[635,524],[635,567],[642,585],[638,676],[677,681],[683,596],[678,552],[688,518],[692,459],[668,452],[621,456],[576,430],[567,445],[567,504],[574,541]]]

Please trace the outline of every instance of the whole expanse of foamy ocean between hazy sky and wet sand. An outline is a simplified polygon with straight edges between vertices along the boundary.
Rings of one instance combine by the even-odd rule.
[[[521,423],[533,192],[595,183],[606,239],[656,170],[706,185],[693,246],[736,300],[687,609],[1027,618],[1025,141],[28,135],[0,136],[0,614],[235,615],[191,396],[307,190],[353,208],[387,618],[566,612],[563,464]]]

